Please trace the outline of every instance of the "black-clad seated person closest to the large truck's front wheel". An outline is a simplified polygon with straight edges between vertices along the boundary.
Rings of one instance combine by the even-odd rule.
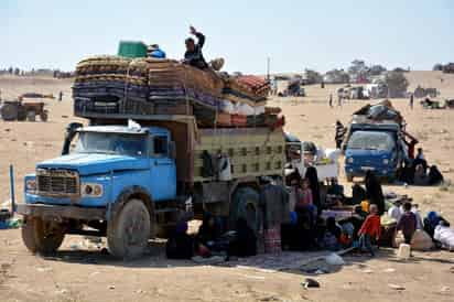
[[[165,255],[169,259],[191,259],[194,256],[194,239],[186,231],[186,222],[176,225],[174,234],[165,244]]]

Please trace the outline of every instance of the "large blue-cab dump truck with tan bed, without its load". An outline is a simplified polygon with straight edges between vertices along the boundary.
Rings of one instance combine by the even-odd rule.
[[[61,157],[24,180],[22,239],[55,252],[65,235],[107,237],[117,258],[139,257],[187,213],[260,227],[260,179],[282,180],[282,129],[197,129],[194,116],[88,117],[67,128]]]

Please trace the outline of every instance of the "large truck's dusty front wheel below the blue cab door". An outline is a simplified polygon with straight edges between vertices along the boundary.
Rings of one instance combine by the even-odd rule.
[[[151,233],[150,213],[140,199],[130,199],[107,226],[107,245],[119,259],[143,255]]]

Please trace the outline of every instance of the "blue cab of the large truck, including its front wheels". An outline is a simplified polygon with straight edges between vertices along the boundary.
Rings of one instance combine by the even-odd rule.
[[[115,256],[141,252],[153,231],[152,214],[160,203],[176,198],[170,131],[91,126],[76,132],[69,154],[40,162],[35,173],[25,176],[25,204],[18,205],[25,246],[51,252],[65,234],[97,230],[107,235]],[[130,241],[123,245],[122,238]]]

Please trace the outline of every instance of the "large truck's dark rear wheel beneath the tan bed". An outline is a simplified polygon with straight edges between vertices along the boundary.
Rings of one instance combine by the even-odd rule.
[[[245,218],[249,227],[259,234],[262,225],[262,215],[259,208],[259,193],[251,187],[238,188],[230,205],[229,224],[234,228],[238,218]]]

